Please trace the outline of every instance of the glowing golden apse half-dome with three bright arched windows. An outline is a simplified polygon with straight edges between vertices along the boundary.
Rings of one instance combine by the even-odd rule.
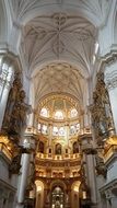
[[[39,104],[39,116],[55,122],[78,119],[79,108],[77,102],[66,95],[50,95]]]

